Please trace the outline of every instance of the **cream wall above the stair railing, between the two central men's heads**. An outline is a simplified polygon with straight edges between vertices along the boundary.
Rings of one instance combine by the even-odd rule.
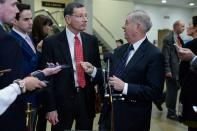
[[[124,25],[127,14],[132,10],[132,2],[114,0],[93,1],[93,15],[113,34],[115,39],[124,39],[122,26]],[[99,24],[93,20],[93,28],[96,29],[98,26]],[[106,32],[101,31],[100,35],[112,48],[116,47],[115,40]]]

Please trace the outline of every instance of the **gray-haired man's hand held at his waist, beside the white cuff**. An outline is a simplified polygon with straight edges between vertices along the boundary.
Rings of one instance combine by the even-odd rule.
[[[116,76],[109,77],[109,85],[113,86],[113,88],[117,91],[123,91],[124,84],[124,81],[122,81]]]

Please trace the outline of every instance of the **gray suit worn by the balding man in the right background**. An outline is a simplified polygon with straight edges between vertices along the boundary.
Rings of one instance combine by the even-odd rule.
[[[165,73],[171,73],[172,77],[166,77],[166,106],[168,115],[176,114],[176,100],[179,89],[179,56],[174,46],[174,32],[170,32],[163,40],[162,52],[165,58]]]

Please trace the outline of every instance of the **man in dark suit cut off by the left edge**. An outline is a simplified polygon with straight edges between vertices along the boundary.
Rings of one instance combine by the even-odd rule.
[[[21,78],[21,51],[17,41],[2,28],[2,23],[11,23],[18,9],[17,0],[0,0],[0,70],[11,69],[0,77],[0,89],[15,79]],[[25,131],[25,108],[22,96],[18,96],[12,105],[0,116],[2,131]]]

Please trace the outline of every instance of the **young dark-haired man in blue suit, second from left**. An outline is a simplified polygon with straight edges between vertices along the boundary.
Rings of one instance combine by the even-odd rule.
[[[13,21],[11,35],[20,43],[23,55],[22,73],[23,76],[29,75],[38,68],[38,53],[29,33],[32,31],[32,12],[30,5],[17,4],[19,13]]]

